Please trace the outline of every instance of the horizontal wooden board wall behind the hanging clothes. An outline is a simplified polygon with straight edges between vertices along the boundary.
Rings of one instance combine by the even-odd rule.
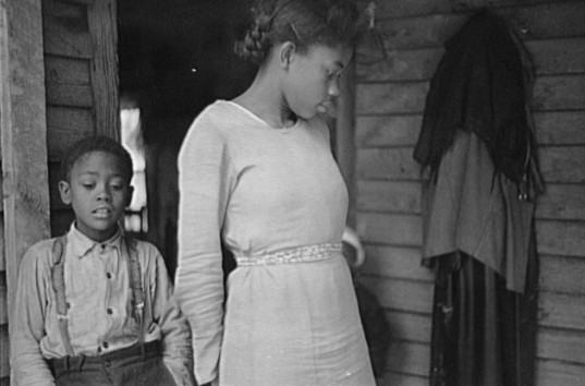
[[[392,342],[382,385],[427,385],[432,274],[421,267],[419,167],[412,154],[442,44],[488,7],[534,57],[534,117],[546,192],[536,209],[540,293],[537,385],[585,379],[585,2],[379,0],[388,60],[356,69],[355,221],[365,284]]]

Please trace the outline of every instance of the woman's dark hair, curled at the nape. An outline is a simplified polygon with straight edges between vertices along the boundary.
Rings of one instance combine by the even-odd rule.
[[[352,0],[256,0],[252,25],[235,51],[261,64],[276,44],[292,41],[302,52],[315,45],[353,47],[361,31]]]

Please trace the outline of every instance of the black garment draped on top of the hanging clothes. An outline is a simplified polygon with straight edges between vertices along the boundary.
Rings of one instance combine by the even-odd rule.
[[[527,170],[533,135],[526,111],[529,70],[504,20],[482,11],[446,44],[427,95],[414,158],[437,172],[458,130],[486,144],[499,172],[519,182]],[[524,61],[525,62],[525,61]]]

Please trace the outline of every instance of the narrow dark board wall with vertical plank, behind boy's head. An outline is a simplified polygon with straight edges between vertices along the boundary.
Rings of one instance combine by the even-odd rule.
[[[115,0],[42,0],[51,233],[73,213],[57,188],[63,152],[93,134],[120,140]]]

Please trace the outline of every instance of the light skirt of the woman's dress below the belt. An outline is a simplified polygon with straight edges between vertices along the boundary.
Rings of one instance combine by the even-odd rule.
[[[239,260],[226,307],[220,385],[375,385],[341,251],[308,261]]]

